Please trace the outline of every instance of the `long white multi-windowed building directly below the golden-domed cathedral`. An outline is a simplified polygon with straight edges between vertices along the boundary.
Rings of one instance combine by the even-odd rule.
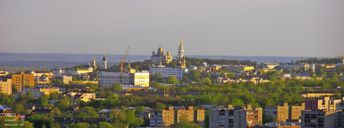
[[[159,72],[164,77],[169,77],[170,75],[174,75],[178,80],[182,80],[183,73],[187,71],[188,69],[185,69],[185,68],[170,68],[170,67],[165,67],[163,65],[158,65],[158,66],[153,65],[149,67],[150,74],[155,74]]]

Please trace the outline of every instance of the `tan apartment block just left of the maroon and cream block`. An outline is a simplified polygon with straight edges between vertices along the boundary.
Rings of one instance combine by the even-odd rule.
[[[279,122],[286,122],[287,119],[299,119],[301,110],[304,110],[304,104],[301,106],[288,106],[288,103],[283,103],[281,106],[266,106],[265,114],[277,118]]]

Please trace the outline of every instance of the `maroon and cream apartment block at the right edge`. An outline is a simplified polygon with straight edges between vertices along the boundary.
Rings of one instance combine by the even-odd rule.
[[[317,100],[305,100],[305,110],[344,110],[344,97],[324,97]]]

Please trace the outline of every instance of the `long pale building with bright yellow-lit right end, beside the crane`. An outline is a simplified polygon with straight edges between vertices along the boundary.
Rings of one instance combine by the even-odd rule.
[[[100,87],[108,88],[114,83],[121,83],[119,72],[99,72],[100,75]],[[143,87],[149,86],[149,72],[147,70],[135,71],[135,69],[130,69],[130,71],[125,71],[122,73],[122,84],[123,85],[141,85]]]

